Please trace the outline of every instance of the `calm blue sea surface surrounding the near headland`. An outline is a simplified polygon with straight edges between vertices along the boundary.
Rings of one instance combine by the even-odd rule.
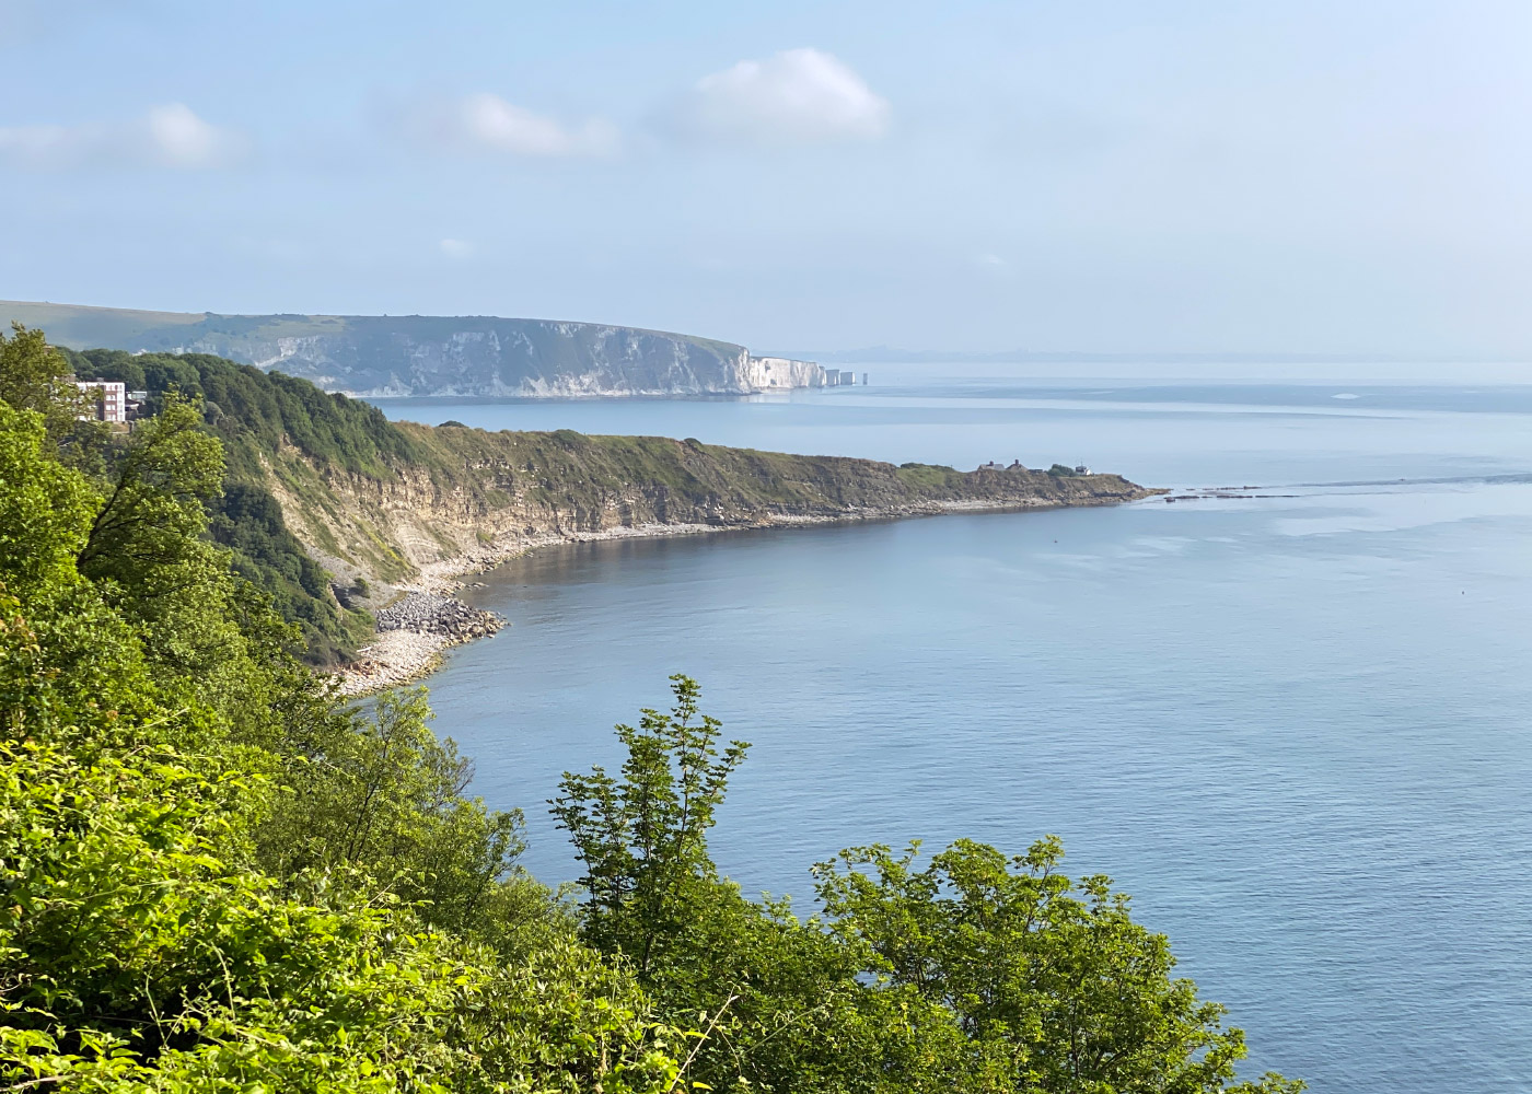
[[[666,676],[752,742],[712,840],[813,907],[840,847],[1063,838],[1314,1091],[1532,1089],[1532,386],[869,368],[741,400],[378,400],[395,418],[973,467],[1226,500],[548,549],[432,679],[475,791],[576,875],[561,772]]]

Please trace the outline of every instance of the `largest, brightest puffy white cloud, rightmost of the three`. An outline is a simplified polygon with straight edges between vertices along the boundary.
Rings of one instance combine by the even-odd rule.
[[[764,144],[872,141],[889,130],[889,101],[818,49],[787,49],[703,77],[680,103],[683,130]]]

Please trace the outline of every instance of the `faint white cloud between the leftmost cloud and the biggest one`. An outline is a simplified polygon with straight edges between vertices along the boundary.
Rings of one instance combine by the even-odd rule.
[[[565,124],[490,92],[426,104],[406,116],[406,129],[429,144],[513,156],[607,156],[619,142],[617,129],[602,118]]]

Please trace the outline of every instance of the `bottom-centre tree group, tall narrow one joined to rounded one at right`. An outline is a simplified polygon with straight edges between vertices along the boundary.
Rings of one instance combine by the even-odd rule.
[[[815,1091],[1291,1091],[1233,1085],[1244,1034],[1174,981],[1169,944],[1106,878],[1057,872],[1045,840],[1007,860],[961,841],[843,852],[815,867],[824,918],[752,902],[720,879],[706,832],[746,745],[697,683],[617,726],[619,777],[565,774],[553,800],[585,867],[584,938],[633,964],[668,1020],[697,1016],[694,1066],[715,1088]]]

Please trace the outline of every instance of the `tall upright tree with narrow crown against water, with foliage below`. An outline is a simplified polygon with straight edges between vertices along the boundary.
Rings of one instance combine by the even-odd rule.
[[[585,939],[633,964],[662,1017],[709,1033],[694,1069],[717,1089],[950,1089],[961,1039],[945,1013],[869,991],[870,955],[719,876],[706,837],[749,746],[720,748],[696,680],[671,691],[669,712],[617,726],[620,777],[567,772],[550,803],[585,870]]]

